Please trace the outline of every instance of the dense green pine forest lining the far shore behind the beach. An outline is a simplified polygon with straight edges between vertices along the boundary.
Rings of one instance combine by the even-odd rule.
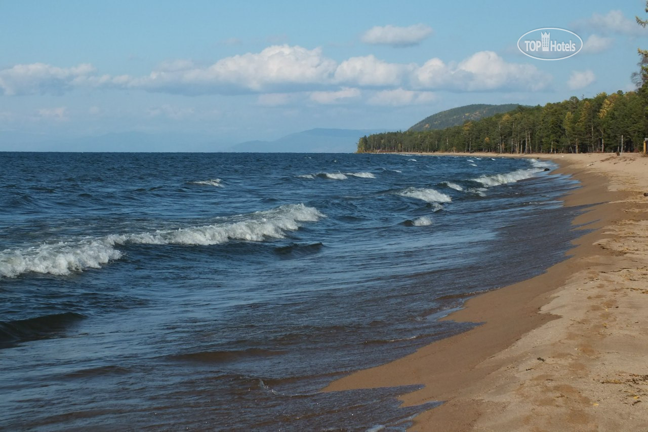
[[[647,54],[648,64],[648,54]],[[648,66],[638,91],[544,106],[518,106],[461,126],[364,136],[358,152],[594,152],[643,149],[648,136]]]

